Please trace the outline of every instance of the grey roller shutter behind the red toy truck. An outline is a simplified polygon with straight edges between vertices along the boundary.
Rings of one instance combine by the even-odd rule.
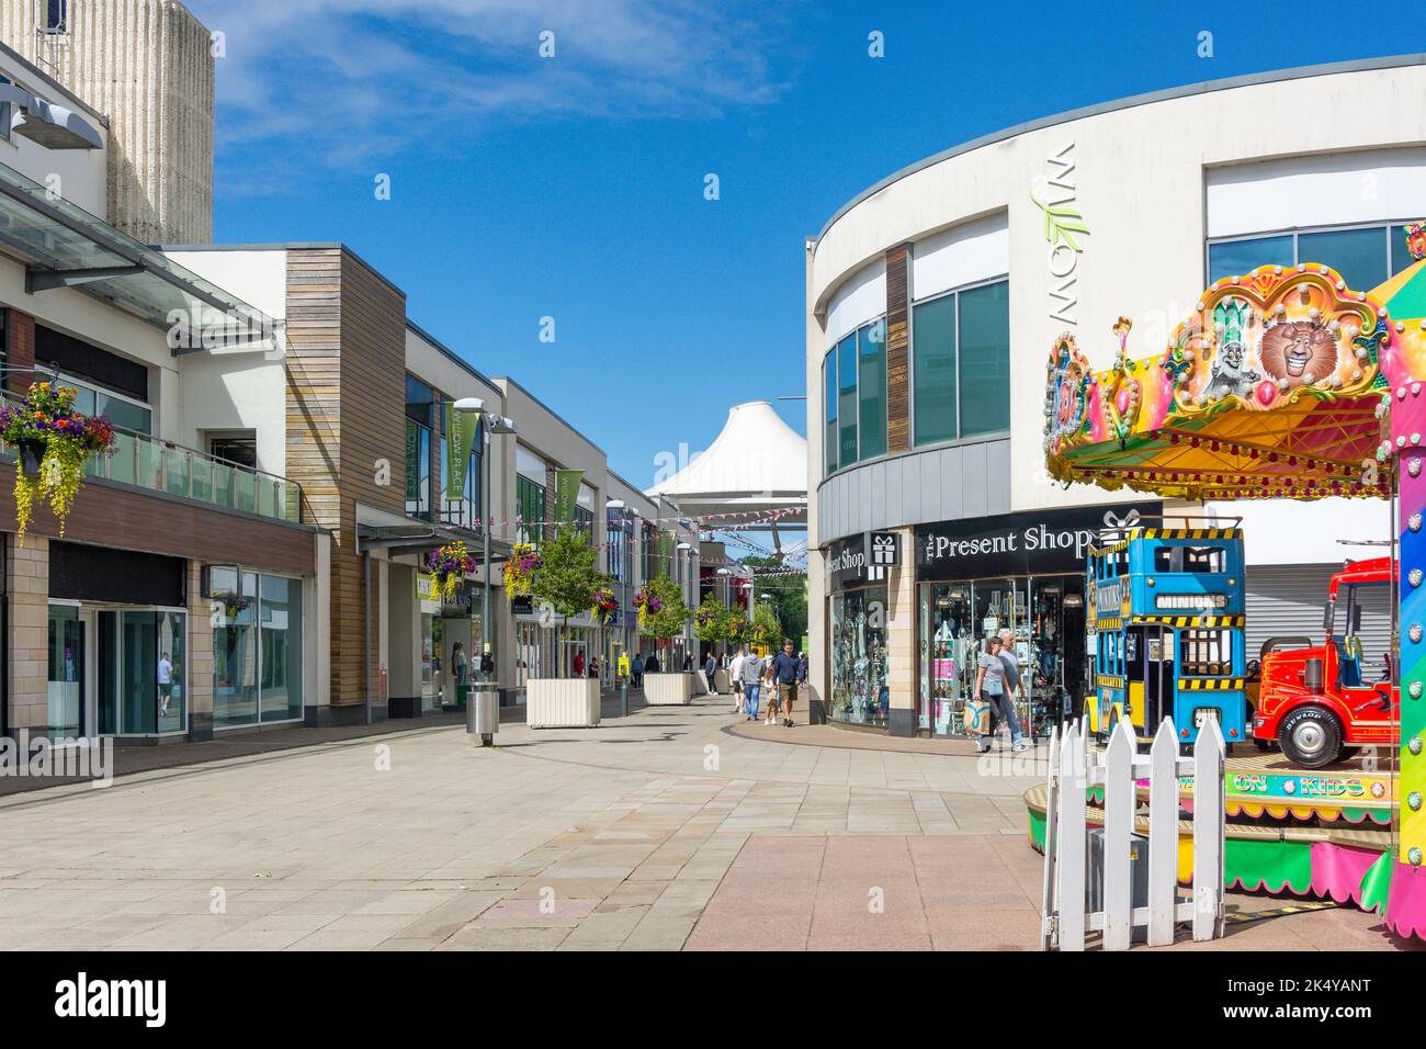
[[[1262,642],[1275,637],[1308,637],[1322,642],[1322,607],[1328,582],[1342,562],[1326,565],[1259,565],[1248,568],[1248,658],[1256,659]],[[1390,587],[1359,587],[1362,654],[1370,671],[1379,671],[1392,644]],[[1346,629],[1346,609],[1338,608],[1338,631]]]

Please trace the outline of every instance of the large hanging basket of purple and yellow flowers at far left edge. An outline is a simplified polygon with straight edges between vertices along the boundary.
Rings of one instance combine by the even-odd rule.
[[[24,545],[36,498],[48,500],[60,538],[64,538],[70,507],[84,487],[84,465],[91,455],[103,455],[114,447],[110,421],[74,411],[74,397],[71,387],[33,382],[23,402],[0,408],[0,438],[20,458],[14,474],[20,545]]]

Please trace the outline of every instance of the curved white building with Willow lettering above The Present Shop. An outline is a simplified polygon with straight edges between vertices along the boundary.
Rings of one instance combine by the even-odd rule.
[[[857,194],[807,250],[814,709],[958,735],[975,648],[1012,631],[1037,734],[1082,696],[1087,545],[1138,515],[1241,517],[1248,645],[1319,635],[1330,572],[1392,535],[1386,504],[1196,505],[1054,484],[1050,351],[1162,347],[1214,280],[1325,263],[1403,270],[1426,213],[1426,60],[1195,84],[1037,120]],[[1166,295],[1166,297],[1165,297]],[[1375,655],[1389,595],[1366,609]]]

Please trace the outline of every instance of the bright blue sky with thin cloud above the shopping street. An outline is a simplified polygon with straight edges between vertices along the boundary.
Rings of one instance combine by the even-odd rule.
[[[803,240],[870,183],[1077,106],[1426,50],[1417,3],[188,3],[225,34],[215,240],[345,241],[639,485],[806,392]]]

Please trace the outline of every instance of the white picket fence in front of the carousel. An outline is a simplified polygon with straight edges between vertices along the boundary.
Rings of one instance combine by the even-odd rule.
[[[1137,926],[1148,945],[1174,942],[1175,922],[1194,923],[1194,939],[1224,935],[1224,735],[1209,718],[1191,758],[1178,754],[1178,732],[1165,719],[1147,756],[1121,721],[1101,752],[1089,734],[1071,725],[1050,738],[1050,791],[1045,798],[1045,878],[1041,949],[1084,951],[1087,932],[1102,932],[1105,951],[1127,951]],[[1194,776],[1194,895],[1179,902],[1178,778]],[[1149,781],[1148,906],[1134,906],[1131,835],[1138,808],[1135,781]],[[1085,791],[1104,785],[1102,909],[1085,895]]]

